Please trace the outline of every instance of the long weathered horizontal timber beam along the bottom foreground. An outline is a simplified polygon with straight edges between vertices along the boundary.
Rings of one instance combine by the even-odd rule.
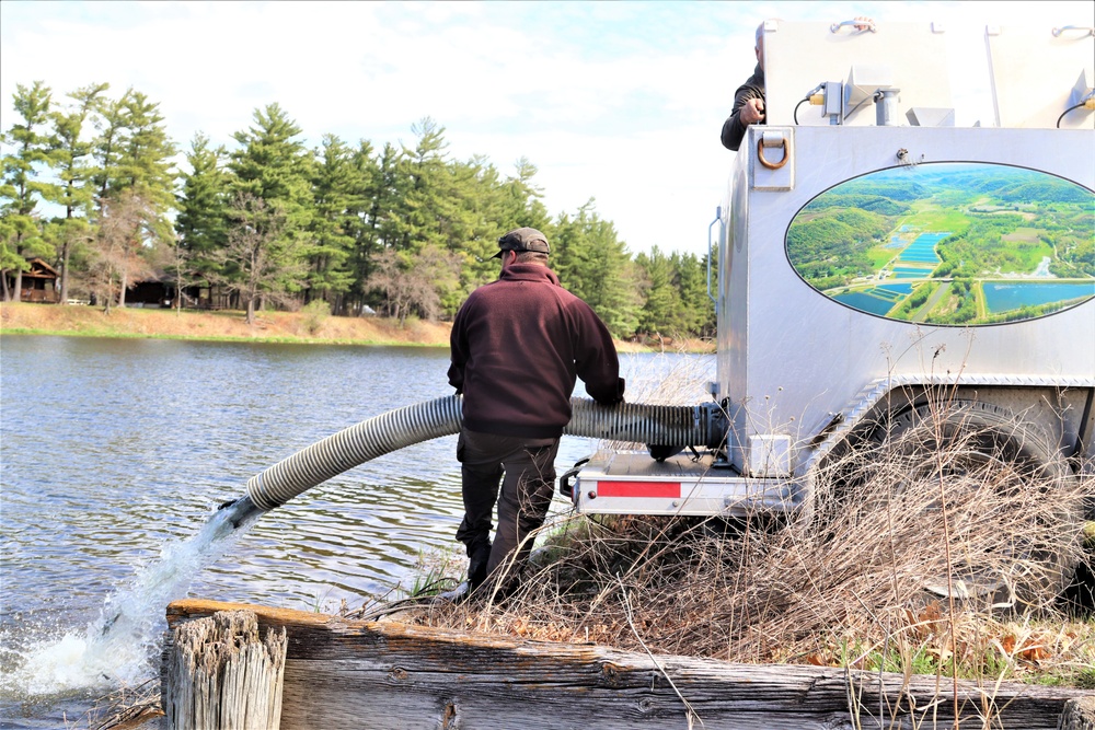
[[[168,607],[169,625],[247,609],[285,628],[281,730],[575,728],[705,730],[953,728],[948,677],[733,664],[606,647],[465,634],[210,601]],[[1076,690],[959,682],[960,728],[1056,730]],[[991,719],[986,719],[991,718]]]

